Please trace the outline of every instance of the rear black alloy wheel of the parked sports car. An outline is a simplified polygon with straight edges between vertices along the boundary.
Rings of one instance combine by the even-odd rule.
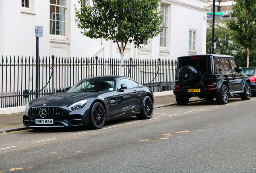
[[[151,97],[145,96],[142,101],[142,109],[140,111],[140,114],[136,117],[138,119],[150,119],[153,115],[153,109],[154,105]]]

